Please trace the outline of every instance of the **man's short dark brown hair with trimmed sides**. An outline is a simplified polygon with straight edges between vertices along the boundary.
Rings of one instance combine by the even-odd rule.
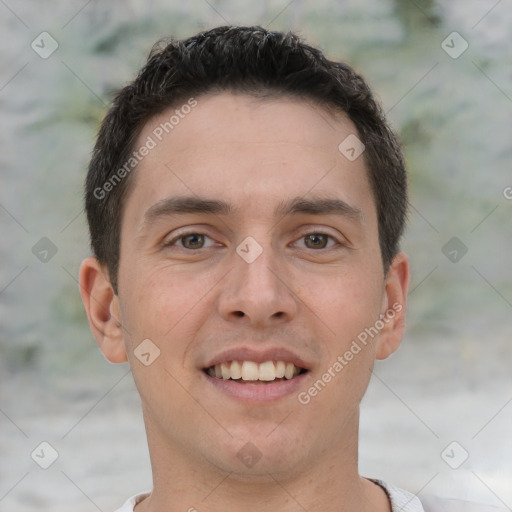
[[[304,98],[348,115],[365,145],[387,271],[405,226],[407,176],[398,138],[369,86],[350,66],[328,60],[293,33],[225,26],[155,45],[103,119],[86,178],[85,206],[93,253],[106,265],[116,293],[123,200],[133,181],[133,173],[119,179],[120,170],[138,135],[165,109],[222,90]]]

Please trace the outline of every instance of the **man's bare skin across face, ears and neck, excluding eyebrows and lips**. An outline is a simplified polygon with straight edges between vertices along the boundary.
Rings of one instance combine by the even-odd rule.
[[[92,332],[109,361],[129,361],[142,399],[154,489],[136,510],[390,510],[384,491],[358,474],[359,404],[375,360],[400,344],[409,264],[399,253],[384,274],[364,158],[338,151],[357,131],[345,115],[297,99],[226,92],[197,101],[133,176],[118,295],[96,259],[80,269]],[[137,146],[172,110],[145,126]],[[185,195],[234,212],[147,218]],[[295,197],[342,199],[360,214],[274,215]],[[178,237],[185,231],[206,235],[199,249],[187,248],[197,238]],[[332,238],[313,237],[315,245],[307,235],[319,232]],[[263,250],[250,264],[236,252],[248,236]],[[402,309],[378,336],[299,403],[297,393],[393,304]],[[149,366],[134,354],[147,338],[160,350]],[[241,345],[288,347],[310,371],[273,402],[226,396],[202,369]],[[237,457],[247,442],[261,454],[252,467]]]

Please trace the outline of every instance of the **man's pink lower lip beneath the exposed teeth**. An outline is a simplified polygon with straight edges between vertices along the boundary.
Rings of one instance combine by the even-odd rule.
[[[290,380],[268,384],[251,384],[250,381],[239,383],[230,379],[217,379],[216,377],[210,377],[204,372],[201,373],[213,386],[233,398],[246,402],[272,402],[297,393],[298,388],[304,383],[304,379],[309,372],[301,373]]]

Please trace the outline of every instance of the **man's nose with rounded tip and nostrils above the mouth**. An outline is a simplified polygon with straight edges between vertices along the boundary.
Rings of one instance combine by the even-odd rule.
[[[289,272],[267,247],[254,260],[233,254],[233,270],[218,298],[219,313],[229,322],[253,327],[289,322],[298,310]]]

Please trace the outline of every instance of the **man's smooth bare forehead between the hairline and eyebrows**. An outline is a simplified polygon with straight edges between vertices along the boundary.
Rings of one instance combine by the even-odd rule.
[[[193,106],[191,106],[193,105]],[[339,150],[357,130],[350,119],[306,100],[207,94],[186,100],[146,123],[136,142],[151,149],[138,163],[128,202],[137,209],[170,196],[215,197],[234,204],[237,215],[250,206],[291,197],[373,202],[363,157]],[[139,212],[140,214],[140,212]]]

